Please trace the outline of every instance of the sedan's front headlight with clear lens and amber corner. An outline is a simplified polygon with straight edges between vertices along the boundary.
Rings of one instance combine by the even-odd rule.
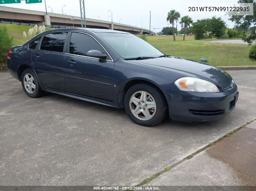
[[[180,90],[183,91],[219,92],[219,89],[215,84],[200,78],[182,77],[176,80],[174,83]]]

